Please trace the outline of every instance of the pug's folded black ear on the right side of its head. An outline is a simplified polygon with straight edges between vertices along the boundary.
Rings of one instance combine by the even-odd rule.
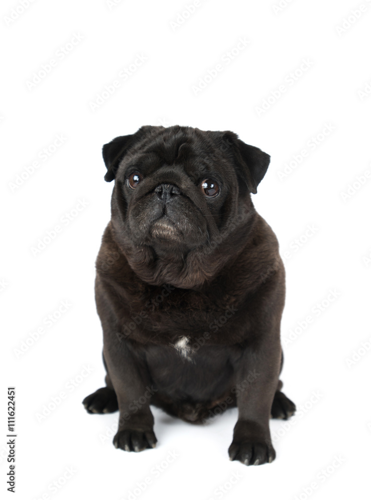
[[[259,147],[245,144],[233,132],[224,132],[223,141],[232,147],[239,173],[253,194],[257,193],[259,182],[264,177],[270,162],[270,155],[259,149]]]

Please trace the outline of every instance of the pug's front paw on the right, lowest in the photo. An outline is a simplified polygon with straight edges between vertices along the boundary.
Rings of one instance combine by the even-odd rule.
[[[228,449],[230,460],[240,460],[245,465],[262,465],[271,463],[276,458],[276,452],[269,439],[235,440]]]

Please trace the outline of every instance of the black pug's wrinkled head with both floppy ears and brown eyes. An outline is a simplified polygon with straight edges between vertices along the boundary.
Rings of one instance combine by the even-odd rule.
[[[230,131],[143,126],[103,146],[111,227],[136,274],[199,287],[244,246],[270,156]]]

